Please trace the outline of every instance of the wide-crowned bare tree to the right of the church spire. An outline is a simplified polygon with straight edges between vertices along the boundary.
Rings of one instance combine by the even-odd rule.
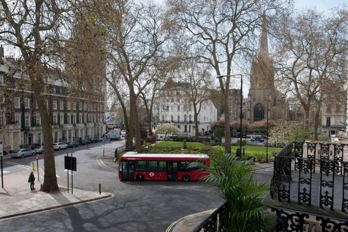
[[[323,89],[343,78],[341,61],[348,48],[347,16],[345,9],[336,9],[329,16],[306,9],[283,15],[274,25],[277,81],[299,99],[305,125],[309,127],[314,121],[315,139],[325,100]]]

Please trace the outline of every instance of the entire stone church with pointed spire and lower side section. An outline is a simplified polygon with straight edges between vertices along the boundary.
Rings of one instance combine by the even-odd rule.
[[[246,117],[252,123],[267,118],[284,120],[288,118],[289,107],[285,97],[274,85],[275,68],[269,55],[267,20],[263,17],[259,48],[250,71],[250,89]],[[268,107],[267,107],[268,105]]]

